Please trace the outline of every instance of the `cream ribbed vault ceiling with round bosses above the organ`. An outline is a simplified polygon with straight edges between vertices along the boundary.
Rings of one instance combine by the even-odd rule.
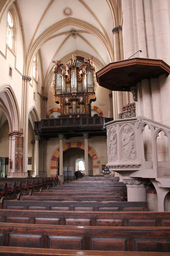
[[[113,62],[112,29],[120,25],[114,24],[116,2],[17,0],[25,37],[26,59],[31,62],[33,55],[40,50],[44,79],[54,65],[52,60],[67,62],[72,53],[85,58],[94,56],[97,70]],[[71,31],[75,31],[76,37],[71,36]]]

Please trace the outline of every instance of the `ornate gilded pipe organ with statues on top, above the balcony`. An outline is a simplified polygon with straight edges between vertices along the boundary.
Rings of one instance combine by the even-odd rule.
[[[91,58],[78,60],[72,54],[71,64],[53,61],[52,92],[60,104],[61,117],[91,116],[91,102],[96,100],[96,73]]]

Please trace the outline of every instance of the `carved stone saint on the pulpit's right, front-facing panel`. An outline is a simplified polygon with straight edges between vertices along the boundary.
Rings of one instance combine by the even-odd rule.
[[[134,132],[131,131],[129,126],[124,128],[124,133],[122,135],[123,144],[123,160],[134,160],[130,157],[131,152],[134,151]]]

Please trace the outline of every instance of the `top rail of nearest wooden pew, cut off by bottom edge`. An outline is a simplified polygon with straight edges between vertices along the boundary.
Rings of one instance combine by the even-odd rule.
[[[2,256],[146,256],[146,252],[80,251],[0,246]],[[147,252],[147,256],[169,256],[169,252]]]

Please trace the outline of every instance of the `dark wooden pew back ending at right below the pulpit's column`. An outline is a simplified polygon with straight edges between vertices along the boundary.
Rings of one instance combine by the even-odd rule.
[[[0,209],[40,211],[148,211],[147,202],[16,201],[1,198]]]

